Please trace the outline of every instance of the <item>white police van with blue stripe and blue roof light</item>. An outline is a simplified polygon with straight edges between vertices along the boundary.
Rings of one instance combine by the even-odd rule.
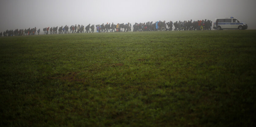
[[[219,21],[218,21],[217,30],[223,30],[223,29],[245,30],[245,29],[248,28],[246,23],[243,23],[243,22],[239,21],[238,19],[236,19],[234,17],[231,17],[231,18],[218,18],[218,19],[219,19]],[[213,29],[216,29],[216,24],[215,23],[213,23]]]

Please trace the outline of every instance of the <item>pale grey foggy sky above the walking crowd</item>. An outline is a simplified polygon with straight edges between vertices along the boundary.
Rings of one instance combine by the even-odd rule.
[[[256,0],[1,0],[0,32],[53,26],[202,20],[231,16],[256,29]]]

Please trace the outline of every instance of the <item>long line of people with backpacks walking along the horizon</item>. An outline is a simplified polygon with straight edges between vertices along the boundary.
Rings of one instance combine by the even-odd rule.
[[[174,26],[174,31],[176,30],[211,30],[212,29],[212,21],[211,20],[197,20],[197,21],[176,21],[176,22],[166,22],[166,21],[157,21],[155,23],[153,22],[147,22],[147,23],[135,23],[134,25],[131,25],[131,23],[117,23],[117,24],[110,24],[110,23],[102,23],[95,25],[96,32],[135,32],[135,31],[172,31]],[[71,34],[71,33],[94,33],[95,29],[94,25],[71,25],[69,26],[61,26],[61,27],[45,27],[43,28],[44,34]],[[132,30],[133,28],[133,30]],[[90,30],[91,29],[91,30]],[[84,31],[86,30],[86,31]],[[57,32],[58,31],[58,32]],[[29,29],[16,29],[16,30],[6,30],[3,33],[0,33],[0,37],[2,35],[4,37],[6,36],[24,36],[24,35],[39,35],[40,29],[36,30],[35,28],[29,28]]]

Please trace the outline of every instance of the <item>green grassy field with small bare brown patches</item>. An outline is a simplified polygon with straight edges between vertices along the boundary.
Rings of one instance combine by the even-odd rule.
[[[0,126],[254,126],[255,35],[0,37]]]

